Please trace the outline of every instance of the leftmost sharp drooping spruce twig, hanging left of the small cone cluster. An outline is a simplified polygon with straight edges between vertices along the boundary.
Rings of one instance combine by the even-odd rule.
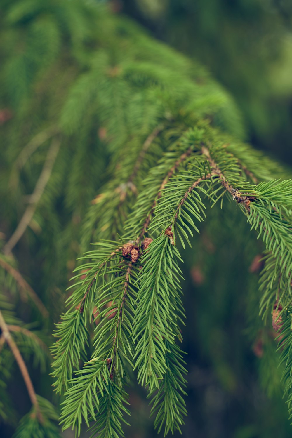
[[[86,361],[84,352],[88,345],[88,324],[93,313],[98,310],[96,307],[96,311],[93,311],[95,294],[113,259],[120,257],[121,249],[116,242],[102,242],[98,251],[89,251],[84,255],[85,260],[92,261],[74,271],[78,272],[72,279],[75,283],[69,287],[69,290],[74,288],[74,291],[67,300],[68,310],[61,315],[61,321],[56,325],[54,336],[57,340],[51,347],[54,358],[52,375],[56,379],[53,385],[58,393],[68,389],[68,382],[73,371],[78,368],[81,357]],[[84,270],[87,271],[85,276]]]

